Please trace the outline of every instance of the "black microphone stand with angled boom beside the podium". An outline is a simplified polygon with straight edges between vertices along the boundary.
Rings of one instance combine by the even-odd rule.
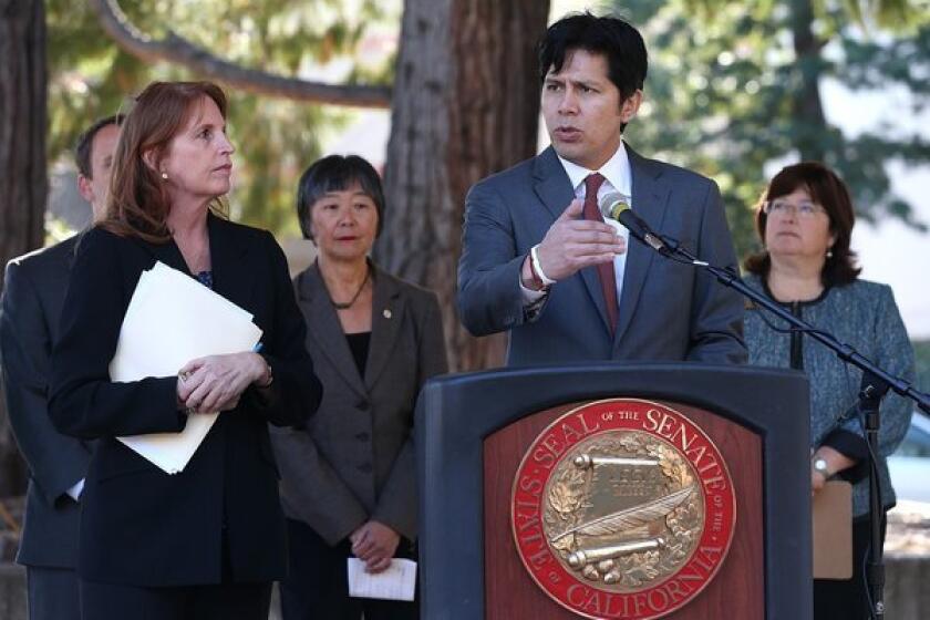
[[[800,330],[803,333],[831,349],[844,362],[851,363],[862,371],[862,384],[861,391],[859,392],[857,410],[861,415],[865,415],[866,440],[869,444],[869,520],[871,527],[866,581],[868,583],[872,618],[881,620],[885,618],[885,566],[881,557],[881,495],[878,483],[878,464],[876,463],[876,458],[878,457],[878,430],[880,426],[879,409],[881,399],[891,389],[898,394],[910,399],[917,406],[930,414],[930,396],[918,391],[907,381],[886,372],[859,354],[849,344],[838,341],[829,332],[814,328],[806,321],[798,319],[778,303],[768,299],[765,294],[743,282],[735,270],[724,269],[700,260],[675,239],[663,235],[655,235],[647,229],[644,224],[640,226],[643,227],[641,230],[636,229],[638,228],[637,226],[628,227],[628,229],[633,237],[642,241],[647,247],[658,251],[670,260],[678,260],[704,268],[722,285],[736,290],[743,297],[750,298],[756,304],[787,322],[792,328]],[[648,236],[651,236],[652,239],[650,240]],[[654,242],[657,238],[661,239],[664,244],[662,247],[659,247]]]

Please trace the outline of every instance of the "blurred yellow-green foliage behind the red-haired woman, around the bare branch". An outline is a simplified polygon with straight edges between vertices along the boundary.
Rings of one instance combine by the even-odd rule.
[[[70,158],[94,118],[128,110],[154,80],[194,80],[183,68],[142,62],[116,46],[84,2],[45,0],[49,52],[49,158]],[[332,81],[381,81],[383,62],[365,62],[356,46],[370,29],[396,21],[397,2],[374,0],[122,0],[145,34],[167,30],[229,62],[270,73]],[[386,8],[385,8],[386,7]],[[322,68],[322,69],[320,69]],[[351,112],[227,90],[229,133],[237,147],[230,195],[238,221],[296,232],[293,196],[300,173]]]

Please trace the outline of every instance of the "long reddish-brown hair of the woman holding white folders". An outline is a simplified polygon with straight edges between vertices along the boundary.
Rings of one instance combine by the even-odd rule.
[[[136,97],[123,121],[113,156],[106,215],[97,226],[154,244],[170,240],[167,218],[172,204],[158,162],[204,97],[211,99],[226,118],[226,94],[211,82],[153,82]],[[213,200],[210,210],[226,217],[220,197]]]

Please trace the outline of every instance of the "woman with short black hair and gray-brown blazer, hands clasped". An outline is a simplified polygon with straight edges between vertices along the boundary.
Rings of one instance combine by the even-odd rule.
[[[417,618],[415,602],[350,598],[347,562],[355,557],[382,574],[392,558],[414,555],[413,412],[423,383],[447,370],[440,307],[368,258],[384,214],[368,162],[314,163],[300,179],[297,211],[318,250],[294,286],[324,395],[306,427],[271,435],[290,544],[282,614]]]

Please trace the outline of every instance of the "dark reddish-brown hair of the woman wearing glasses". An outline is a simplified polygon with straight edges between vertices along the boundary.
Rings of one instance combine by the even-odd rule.
[[[765,224],[768,216],[765,215],[763,205],[768,200],[787,196],[795,189],[805,189],[810,194],[814,203],[826,209],[830,220],[830,232],[836,237],[820,271],[820,280],[825,287],[850,283],[861,271],[856,265],[856,252],[849,248],[852,226],[856,224],[852,200],[849,198],[849,189],[843,179],[819,162],[802,162],[786,166],[772,178],[756,205],[755,221],[758,238],[763,244],[765,242]],[[747,271],[764,278],[768,276],[772,258],[768,256],[768,250],[764,249],[747,258],[743,266]]]

